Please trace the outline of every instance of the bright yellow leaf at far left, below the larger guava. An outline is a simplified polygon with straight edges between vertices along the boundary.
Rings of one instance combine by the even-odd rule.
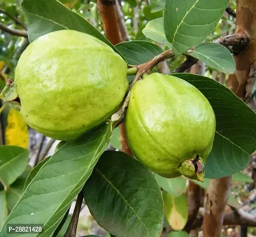
[[[28,148],[28,127],[20,112],[11,108],[9,110],[7,127],[5,129],[6,145]]]

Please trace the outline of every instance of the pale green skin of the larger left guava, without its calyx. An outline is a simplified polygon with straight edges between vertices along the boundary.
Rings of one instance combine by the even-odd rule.
[[[21,114],[38,132],[71,140],[107,120],[128,89],[126,62],[110,46],[73,30],[33,41],[15,69]]]

